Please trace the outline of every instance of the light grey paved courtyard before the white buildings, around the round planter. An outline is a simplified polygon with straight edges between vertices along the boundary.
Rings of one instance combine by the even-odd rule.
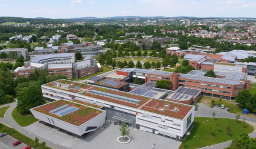
[[[142,130],[130,130],[131,142],[121,144],[116,141],[120,136],[119,128],[121,126],[113,125],[106,121],[105,129],[98,129],[92,136],[86,139],[77,139],[70,137],[57,129],[51,129],[43,124],[36,122],[32,125],[24,127],[34,134],[45,137],[47,140],[56,142],[62,146],[67,146],[73,149],[152,149],[152,144],[155,143],[155,149],[178,149],[180,142],[154,135]],[[56,146],[57,149],[58,146]]]

